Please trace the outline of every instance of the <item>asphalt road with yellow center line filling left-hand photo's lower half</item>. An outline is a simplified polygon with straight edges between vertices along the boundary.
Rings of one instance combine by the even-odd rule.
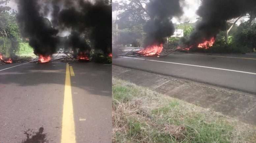
[[[0,143],[110,143],[111,72],[92,62],[1,65]]]

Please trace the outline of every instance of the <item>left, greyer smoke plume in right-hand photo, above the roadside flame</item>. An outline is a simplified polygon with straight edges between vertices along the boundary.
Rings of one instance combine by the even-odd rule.
[[[164,37],[173,35],[175,31],[171,19],[183,14],[180,0],[152,0],[147,10],[150,20],[143,27],[146,32],[144,46],[163,44]]]

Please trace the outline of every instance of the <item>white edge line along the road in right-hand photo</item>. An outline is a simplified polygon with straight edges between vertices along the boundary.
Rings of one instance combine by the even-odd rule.
[[[123,57],[123,56],[119,56],[119,57],[128,58],[128,59],[136,59],[136,60],[146,60],[146,61],[152,61],[152,62],[160,62],[160,63],[172,63],[172,64],[188,65],[188,66],[195,66],[195,67],[204,67],[204,68],[226,70],[226,71],[233,71],[233,72],[239,72],[239,73],[246,73],[246,74],[256,75],[256,73],[252,73],[252,72],[245,72],[245,71],[231,70],[231,69],[224,69],[224,68],[216,68],[216,67],[209,67],[209,66],[201,66],[201,65],[193,65],[193,64],[185,64],[185,63],[164,62],[164,61],[147,60],[147,59],[139,59],[139,58],[131,58],[131,57]]]

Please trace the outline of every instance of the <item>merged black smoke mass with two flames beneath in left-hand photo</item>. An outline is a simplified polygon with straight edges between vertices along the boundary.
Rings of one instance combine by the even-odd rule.
[[[80,60],[89,60],[92,48],[105,55],[111,53],[112,10],[106,1],[16,0],[16,3],[22,36],[29,39],[39,62],[51,61],[51,55],[60,45],[72,48],[74,53],[70,58]]]

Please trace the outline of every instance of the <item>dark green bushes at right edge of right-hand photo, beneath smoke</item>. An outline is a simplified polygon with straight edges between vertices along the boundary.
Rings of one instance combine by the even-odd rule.
[[[228,23],[227,25],[231,25]],[[215,43],[209,49],[194,49],[195,52],[206,53],[249,53],[255,52],[256,48],[256,22],[243,22],[239,26],[234,24],[226,35],[227,31],[221,31],[215,40]]]

